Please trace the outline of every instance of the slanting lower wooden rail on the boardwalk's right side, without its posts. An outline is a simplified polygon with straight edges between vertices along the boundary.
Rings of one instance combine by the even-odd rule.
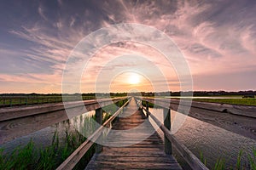
[[[183,156],[183,159],[187,161],[189,166],[192,169],[198,169],[198,170],[208,170],[208,167],[206,167],[184,144],[180,143],[175,136],[172,135],[171,131],[168,130],[151,112],[147,111],[145,107],[143,107],[143,110],[147,112],[149,116],[152,117],[154,122],[160,127],[160,129],[163,131],[163,133],[166,135],[166,138],[174,144],[174,146],[177,148],[178,153]]]

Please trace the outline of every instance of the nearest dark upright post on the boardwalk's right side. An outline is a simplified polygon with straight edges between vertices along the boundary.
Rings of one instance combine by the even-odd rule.
[[[164,125],[168,130],[171,129],[171,110],[166,108],[164,108]],[[172,143],[166,138],[166,135],[165,151],[167,155],[172,155]]]

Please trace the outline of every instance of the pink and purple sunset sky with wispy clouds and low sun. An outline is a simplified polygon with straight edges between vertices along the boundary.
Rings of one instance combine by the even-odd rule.
[[[63,92],[73,49],[90,33],[125,23],[170,37],[194,90],[256,90],[255,0],[9,0],[0,11],[0,93]],[[187,89],[177,66],[142,42],[108,44],[84,63],[79,92]]]

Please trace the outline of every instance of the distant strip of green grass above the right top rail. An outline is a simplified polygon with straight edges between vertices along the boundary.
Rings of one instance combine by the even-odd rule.
[[[256,99],[193,99],[194,101],[212,102],[230,105],[256,105]]]

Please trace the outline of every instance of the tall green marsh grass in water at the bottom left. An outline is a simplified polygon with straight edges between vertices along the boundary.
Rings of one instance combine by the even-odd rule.
[[[64,143],[61,145],[59,135],[55,131],[52,143],[45,148],[36,148],[31,139],[24,147],[17,147],[8,156],[3,155],[2,149],[0,150],[0,169],[55,169],[84,142],[85,138],[80,135],[76,131],[66,131]],[[92,150],[86,153],[85,157],[90,158],[91,153]]]

